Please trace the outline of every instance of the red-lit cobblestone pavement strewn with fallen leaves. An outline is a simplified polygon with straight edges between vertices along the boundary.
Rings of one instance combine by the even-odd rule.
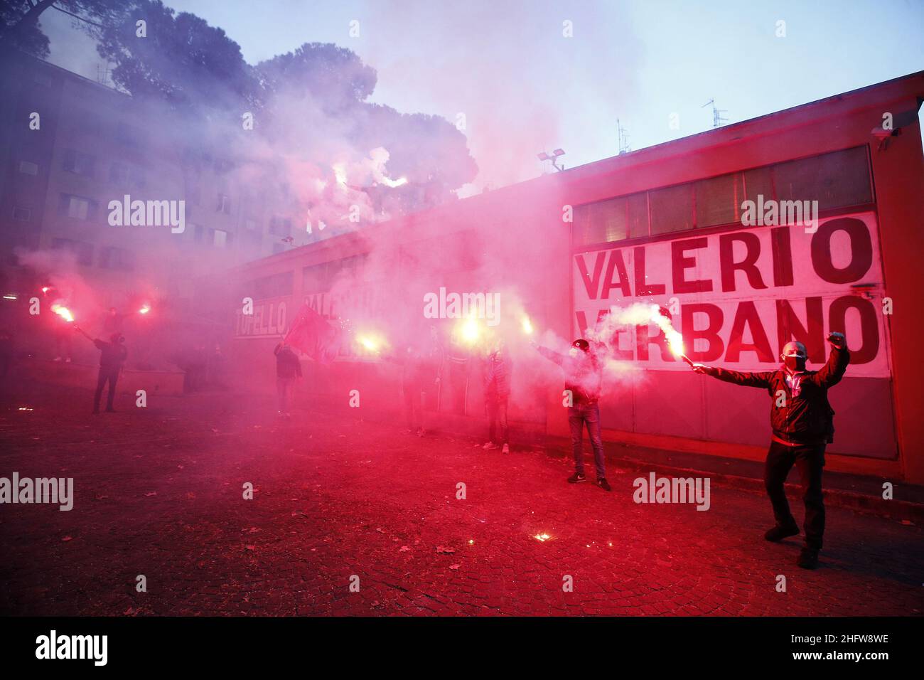
[[[0,506],[0,612],[924,611],[919,526],[830,508],[822,567],[806,572],[797,538],[763,540],[769,503],[745,491],[713,486],[708,512],[636,504],[627,470],[611,466],[612,493],[568,485],[564,457],[419,439],[355,412],[279,422],[255,397],[124,399],[94,416],[82,390],[3,405],[0,476],[72,476],[75,502]]]

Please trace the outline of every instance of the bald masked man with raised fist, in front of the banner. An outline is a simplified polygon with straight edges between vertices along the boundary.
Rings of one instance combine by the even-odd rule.
[[[802,482],[802,500],[806,506],[805,547],[796,564],[804,569],[818,566],[818,553],[824,534],[824,503],[821,492],[821,469],[825,447],[833,441],[834,411],[828,402],[828,389],[841,378],[850,363],[844,334],[831,333],[831,354],[820,371],[806,368],[807,352],[801,342],[787,342],[783,348],[783,365],[775,371],[739,373],[725,368],[693,365],[693,370],[725,382],[766,389],[771,398],[772,437],[764,466],[764,485],[773,506],[776,525],[764,538],[780,541],[798,536],[796,518],[789,510],[784,483],[793,465]]]

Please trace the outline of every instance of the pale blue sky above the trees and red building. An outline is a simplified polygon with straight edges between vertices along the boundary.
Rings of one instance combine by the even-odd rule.
[[[617,119],[635,150],[711,129],[711,99],[734,123],[924,69],[924,0],[165,4],[222,27],[250,64],[352,49],[378,71],[371,101],[464,124],[480,175],[463,195],[539,175],[541,151],[563,148],[565,167],[616,155]],[[66,17],[43,28],[50,60],[95,79]]]

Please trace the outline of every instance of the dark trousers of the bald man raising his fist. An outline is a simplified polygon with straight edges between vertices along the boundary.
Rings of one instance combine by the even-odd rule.
[[[781,526],[798,526],[786,501],[784,482],[793,464],[802,483],[802,501],[806,505],[805,542],[808,548],[821,550],[824,535],[824,500],[821,493],[821,470],[824,467],[825,444],[785,446],[772,441],[767,452],[763,481],[773,505],[773,517]]]

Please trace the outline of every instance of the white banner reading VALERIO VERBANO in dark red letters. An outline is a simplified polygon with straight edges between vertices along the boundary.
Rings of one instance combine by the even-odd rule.
[[[576,336],[611,306],[657,303],[672,315],[687,355],[739,370],[780,365],[787,340],[818,369],[831,331],[847,337],[849,375],[888,377],[891,353],[876,216],[760,227],[573,255]],[[652,369],[685,369],[656,326],[621,327],[619,358]]]

